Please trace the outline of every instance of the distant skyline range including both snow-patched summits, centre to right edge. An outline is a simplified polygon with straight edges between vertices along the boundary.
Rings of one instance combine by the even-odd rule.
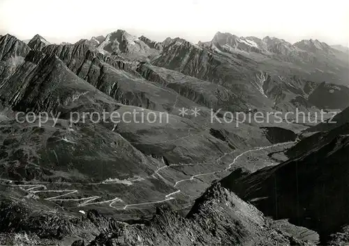
[[[183,76],[224,86],[239,94],[235,105],[240,110],[264,107],[294,111],[296,107],[309,110],[314,106],[343,109],[349,104],[343,98],[348,93],[348,56],[318,40],[291,45],[269,36],[244,38],[218,32],[210,42],[194,45],[181,38],[156,43],[117,30],[106,38],[98,36],[80,43],[96,47],[95,53],[102,52],[117,61],[147,60],[153,66],[167,68],[168,74],[176,70]],[[320,84],[324,81],[326,89]],[[317,94],[311,97],[316,88]],[[333,93],[339,88],[341,93]],[[318,94],[323,95],[321,102],[316,99]]]

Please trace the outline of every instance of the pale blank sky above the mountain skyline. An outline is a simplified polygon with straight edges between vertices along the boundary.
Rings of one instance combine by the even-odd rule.
[[[349,1],[0,0],[0,33],[20,39],[39,33],[74,43],[117,29],[157,41],[180,36],[197,43],[221,31],[348,46]]]

